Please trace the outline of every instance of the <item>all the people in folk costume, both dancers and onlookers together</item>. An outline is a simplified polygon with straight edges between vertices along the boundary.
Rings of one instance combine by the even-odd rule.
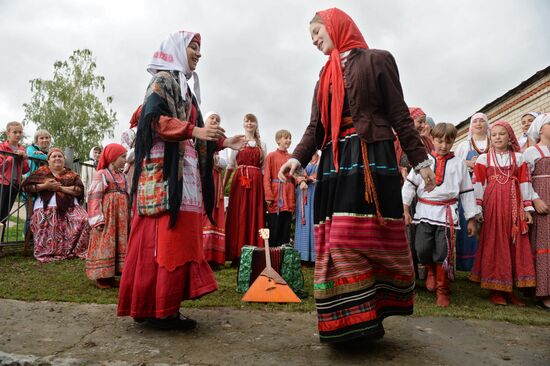
[[[382,337],[385,317],[412,314],[418,277],[449,306],[456,270],[496,305],[525,306],[521,288],[550,309],[550,114],[522,116],[517,139],[476,113],[453,152],[455,126],[405,104],[393,56],[370,49],[347,14],[320,11],[309,29],[328,60],[292,154],[284,129],[266,151],[254,114],[233,137],[220,113],[202,115],[201,37],[180,31],[153,53],[121,144],[92,148],[91,176],[65,167],[47,131],[25,152],[21,124],[8,124],[0,148],[14,155],[0,165],[17,174],[2,175],[1,219],[6,192],[21,189],[34,203],[35,257],[85,258],[99,288],[120,286],[119,316],[158,328],[194,328],[181,301],[215,291],[213,269],[263,246],[266,225],[270,246],[293,243],[315,263],[322,342]]]

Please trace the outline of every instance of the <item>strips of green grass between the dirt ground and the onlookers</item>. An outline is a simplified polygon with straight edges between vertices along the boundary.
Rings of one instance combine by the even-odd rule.
[[[237,270],[225,266],[215,272],[219,290],[200,300],[185,301],[184,307],[236,307],[246,309],[274,309],[282,311],[315,311],[309,296],[301,304],[249,304],[241,302],[235,292]],[[304,267],[306,291],[311,295],[313,268]],[[509,321],[520,325],[550,326],[550,314],[533,306],[495,306],[487,300],[487,291],[468,280],[467,273],[459,272],[452,285],[452,304],[448,308],[435,306],[433,294],[418,281],[415,316],[448,316],[463,319]],[[19,253],[0,257],[0,298],[24,301],[68,301],[76,303],[115,304],[117,290],[98,290],[84,273],[84,261],[66,260],[42,264]]]

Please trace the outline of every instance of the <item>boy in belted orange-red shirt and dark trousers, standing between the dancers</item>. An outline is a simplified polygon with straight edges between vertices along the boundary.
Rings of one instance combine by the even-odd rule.
[[[269,245],[280,246],[290,243],[292,214],[296,208],[294,179],[286,181],[277,178],[279,169],[290,158],[288,148],[292,136],[287,130],[275,133],[277,150],[270,152],[265,159],[264,195],[267,203],[267,226],[269,228]]]

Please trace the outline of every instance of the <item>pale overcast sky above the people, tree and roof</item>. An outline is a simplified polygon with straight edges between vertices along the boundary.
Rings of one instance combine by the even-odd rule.
[[[0,0],[0,124],[24,118],[29,80],[51,78],[56,60],[89,48],[114,97],[118,140],[142,102],[152,53],[186,29],[202,35],[203,112],[219,111],[229,134],[256,114],[269,150],[281,128],[297,143],[326,61],[308,23],[334,6],[369,47],[393,53],[407,104],[436,121],[464,120],[550,62],[547,0]]]

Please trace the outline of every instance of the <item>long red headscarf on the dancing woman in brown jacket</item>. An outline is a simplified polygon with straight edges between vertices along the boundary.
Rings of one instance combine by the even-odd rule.
[[[321,123],[325,128],[325,140],[328,141],[328,124],[331,123],[332,154],[334,155],[334,167],[338,171],[338,133],[342,122],[342,109],[344,106],[344,76],[340,53],[353,48],[369,48],[361,31],[349,15],[337,8],[331,8],[317,12],[323,20],[327,33],[334,44],[327,63],[323,68],[319,79],[317,103],[321,111]],[[332,86],[332,100],[329,108],[329,100]],[[329,116],[330,109],[330,116]]]

